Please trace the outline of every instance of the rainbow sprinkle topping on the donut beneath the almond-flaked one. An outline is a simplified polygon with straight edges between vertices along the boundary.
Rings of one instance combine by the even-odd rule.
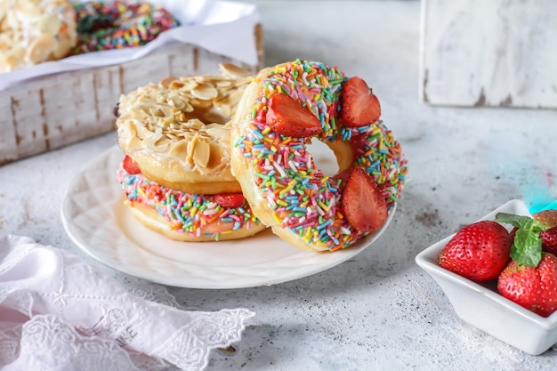
[[[260,223],[246,202],[240,207],[223,207],[211,196],[172,190],[149,181],[141,173],[126,173],[123,168],[117,171],[117,182],[125,190],[126,202],[131,206],[141,203],[156,209],[170,222],[172,230],[189,233],[191,237],[203,236],[218,241],[223,234]]]

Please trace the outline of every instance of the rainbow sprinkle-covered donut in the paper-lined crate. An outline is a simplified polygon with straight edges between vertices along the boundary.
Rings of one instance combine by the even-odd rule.
[[[180,25],[162,6],[125,1],[74,4],[77,45],[72,54],[140,46]]]

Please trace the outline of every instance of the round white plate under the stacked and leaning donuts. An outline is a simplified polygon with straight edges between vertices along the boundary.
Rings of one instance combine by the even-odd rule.
[[[234,241],[178,242],[143,227],[123,205],[115,181],[123,157],[114,147],[85,165],[69,183],[62,222],[69,237],[94,259],[164,285],[241,288],[307,277],[359,254],[383,234],[394,215],[393,209],[380,230],[335,253],[299,250],[270,230]]]

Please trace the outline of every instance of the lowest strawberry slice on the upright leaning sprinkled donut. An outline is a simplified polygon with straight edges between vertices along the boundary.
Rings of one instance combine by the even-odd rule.
[[[373,232],[387,220],[387,203],[373,178],[354,166],[341,199],[346,220],[361,232]]]

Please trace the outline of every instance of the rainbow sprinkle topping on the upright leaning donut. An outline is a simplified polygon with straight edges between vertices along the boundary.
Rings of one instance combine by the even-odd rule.
[[[347,128],[336,120],[347,80],[343,72],[315,61],[295,60],[270,70],[259,80],[261,95],[248,130],[233,143],[253,167],[257,186],[278,225],[329,251],[351,246],[367,233],[355,230],[344,218],[341,180],[315,167],[304,139],[270,131],[265,116],[267,101],[276,93],[301,101],[321,122],[320,141],[351,141],[356,149],[354,164],[374,178],[392,209],[408,172],[407,161],[382,121]]]

